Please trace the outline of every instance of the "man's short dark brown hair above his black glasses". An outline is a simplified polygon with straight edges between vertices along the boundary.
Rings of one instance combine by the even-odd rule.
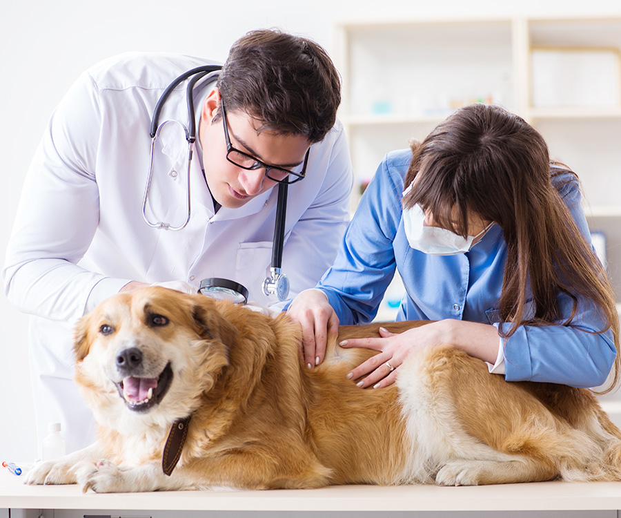
[[[255,30],[238,39],[217,87],[227,111],[244,111],[262,129],[306,135],[311,142],[330,131],[341,103],[340,77],[326,51],[279,30]]]

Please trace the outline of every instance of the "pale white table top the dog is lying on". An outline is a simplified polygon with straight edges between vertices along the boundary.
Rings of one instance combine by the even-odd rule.
[[[332,486],[313,490],[171,491],[98,495],[79,486],[25,486],[0,470],[0,508],[253,511],[620,510],[621,482],[499,486]]]

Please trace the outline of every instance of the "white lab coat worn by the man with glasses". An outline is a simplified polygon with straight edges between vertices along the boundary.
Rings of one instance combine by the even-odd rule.
[[[152,229],[143,220],[150,117],[172,79],[203,64],[213,61],[130,53],[94,66],[55,110],[26,176],[3,280],[9,300],[34,316],[30,358],[37,432],[41,437],[48,421],[61,421],[68,451],[90,443],[94,430],[70,381],[70,329],[101,300],[130,280],[198,285],[202,278],[221,277],[246,286],[250,300],[277,303],[262,293],[277,189],[239,209],[221,207],[215,213],[195,153],[187,227]],[[196,99],[204,98],[206,90],[199,90]],[[171,93],[160,122],[187,124],[185,95],[185,84]],[[158,145],[147,214],[179,224],[186,217],[188,144],[162,135]],[[332,264],[348,220],[352,183],[337,122],[311,146],[306,178],[289,186],[282,269],[291,298],[314,286]]]

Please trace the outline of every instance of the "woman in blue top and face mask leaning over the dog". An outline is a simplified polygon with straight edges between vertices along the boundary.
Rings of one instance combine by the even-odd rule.
[[[507,381],[595,387],[619,377],[613,291],[591,246],[578,178],[498,106],[461,108],[411,150],[388,153],[335,264],[288,308],[304,361],[337,325],[372,320],[395,270],[402,334],[349,340],[379,352],[349,376],[385,387],[416,347],[453,345]]]

